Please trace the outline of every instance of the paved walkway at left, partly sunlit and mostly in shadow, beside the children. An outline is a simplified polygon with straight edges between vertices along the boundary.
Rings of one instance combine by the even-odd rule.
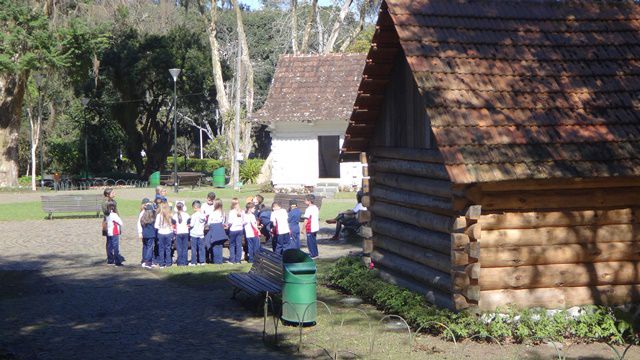
[[[20,359],[291,358],[263,346],[262,318],[230,300],[226,282],[194,289],[136,266],[131,227],[121,240],[127,265],[104,265],[99,227],[96,219],[0,222],[0,273],[11,277],[0,278],[9,284],[0,350]],[[325,256],[349,250],[321,247]]]

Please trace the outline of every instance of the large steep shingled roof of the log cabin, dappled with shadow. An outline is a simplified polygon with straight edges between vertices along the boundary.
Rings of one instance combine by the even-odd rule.
[[[343,152],[367,149],[397,51],[452,181],[640,176],[637,4],[387,0]]]

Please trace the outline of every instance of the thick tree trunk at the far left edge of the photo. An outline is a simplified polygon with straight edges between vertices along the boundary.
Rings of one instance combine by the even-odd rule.
[[[0,187],[18,185],[18,135],[28,75],[0,74]]]

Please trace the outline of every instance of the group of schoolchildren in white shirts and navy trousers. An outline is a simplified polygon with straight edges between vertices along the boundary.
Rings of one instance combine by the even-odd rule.
[[[103,232],[107,238],[107,263],[119,266],[122,262],[119,254],[119,236],[122,233],[123,222],[118,216],[113,190],[105,190],[104,195],[103,211],[106,225],[103,223]],[[205,203],[198,200],[191,203],[192,213],[189,214],[184,201],[176,201],[175,205],[171,206],[166,198],[166,190],[158,187],[154,201],[147,198],[142,200],[138,216],[138,237],[142,241],[142,267],[171,266],[174,246],[178,266],[222,264],[222,249],[226,241],[229,241],[229,263],[240,263],[243,259],[252,263],[260,249],[261,234],[276,253],[282,254],[287,249],[299,249],[301,221],[304,221],[302,230],[307,235],[310,256],[317,257],[316,233],[320,224],[319,210],[314,204],[315,197],[305,197],[307,209],[304,214],[298,209],[295,201],[290,201],[288,212],[277,202],[270,208],[263,202],[264,197],[256,195],[248,198],[242,208],[240,201],[233,198],[230,210],[225,215],[222,200],[210,192]]]

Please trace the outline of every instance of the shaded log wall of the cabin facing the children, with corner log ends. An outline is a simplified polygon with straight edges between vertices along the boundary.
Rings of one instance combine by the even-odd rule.
[[[480,299],[478,206],[460,206],[435,150],[374,148],[361,158],[365,246],[380,276],[454,310]],[[365,240],[368,243],[368,240]],[[365,257],[365,259],[367,259]]]

